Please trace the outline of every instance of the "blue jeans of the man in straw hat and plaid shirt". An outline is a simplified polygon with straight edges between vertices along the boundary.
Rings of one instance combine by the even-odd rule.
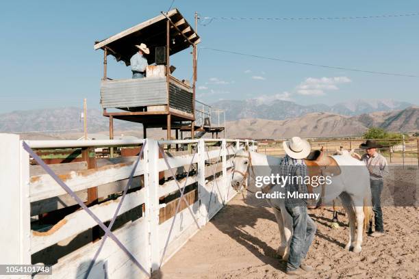
[[[285,209],[292,217],[292,233],[290,244],[290,256],[288,257],[287,270],[295,270],[300,267],[301,261],[312,245],[317,226],[307,214],[307,207],[298,207],[292,204],[285,205]]]

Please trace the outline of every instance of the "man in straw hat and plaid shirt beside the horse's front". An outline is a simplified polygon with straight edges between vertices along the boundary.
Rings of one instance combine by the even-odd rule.
[[[292,137],[289,141],[283,142],[283,149],[286,155],[280,165],[282,175],[290,177],[308,176],[307,165],[303,159],[311,151],[310,144],[300,137]],[[303,194],[308,193],[303,180],[297,180],[294,183],[294,179],[291,179],[285,185],[285,190],[288,192],[298,191]],[[301,275],[313,271],[313,267],[303,263],[310,245],[312,245],[317,228],[312,218],[307,214],[307,200],[287,198],[285,199],[285,209],[292,217],[292,227],[294,228],[286,272],[290,275]]]

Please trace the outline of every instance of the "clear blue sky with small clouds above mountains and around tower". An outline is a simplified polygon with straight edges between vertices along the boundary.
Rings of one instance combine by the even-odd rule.
[[[0,9],[0,112],[45,107],[99,108],[102,51],[95,40],[136,25],[168,1],[3,1]],[[328,17],[419,12],[418,1],[185,1],[178,8],[193,23],[201,16]],[[207,21],[201,22],[207,23]],[[419,16],[354,21],[212,21],[199,25],[199,47],[313,64],[419,75]],[[189,79],[190,53],[171,60],[175,76]],[[131,72],[114,59],[109,77]],[[275,98],[301,104],[394,98],[419,103],[419,78],[255,59],[201,49],[199,99]]]

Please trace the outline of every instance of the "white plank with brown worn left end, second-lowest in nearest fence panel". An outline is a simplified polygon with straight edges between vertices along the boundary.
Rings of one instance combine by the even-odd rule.
[[[145,199],[144,192],[144,189],[141,189],[140,191],[127,194],[122,206],[120,207],[119,215],[137,207],[140,204],[143,204]],[[107,220],[112,219],[121,198],[122,197],[119,197],[116,200],[94,205],[93,207],[90,207],[90,210],[97,215],[102,222],[106,222]],[[92,228],[96,225],[97,223],[84,210],[71,213],[58,222],[58,224],[55,224],[55,226],[47,232],[40,233],[32,231],[31,252],[38,252],[53,245],[54,243],[62,241],[72,235],[77,235],[78,233],[88,230],[88,228]]]

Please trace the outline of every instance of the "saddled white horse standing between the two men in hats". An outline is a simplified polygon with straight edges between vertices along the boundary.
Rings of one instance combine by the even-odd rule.
[[[338,165],[340,166],[359,166],[357,168],[343,169],[341,174],[333,176],[331,178],[333,183],[329,187],[325,187],[325,195],[322,197],[322,202],[331,202],[338,197],[342,200],[342,205],[348,213],[350,227],[349,240],[345,249],[353,249],[353,252],[359,253],[361,252],[363,231],[371,215],[370,176],[367,168],[362,168],[364,163],[348,155],[348,152],[344,152],[343,155],[333,156],[333,158],[338,161]],[[278,166],[280,163],[281,158],[279,157],[262,155],[250,151],[249,148],[238,150],[233,161],[234,170],[233,177],[231,178],[231,186],[236,191],[240,190],[246,178],[255,175],[252,173],[255,172],[253,166],[264,166],[264,168],[257,168],[257,176],[270,176],[273,173],[273,167]],[[277,167],[276,170],[278,170]],[[280,185],[264,185],[261,190],[263,193],[282,191]],[[275,213],[279,227],[281,243],[277,253],[286,261],[290,253],[290,241],[293,230],[292,217],[285,210],[283,199],[271,198],[266,200]]]

